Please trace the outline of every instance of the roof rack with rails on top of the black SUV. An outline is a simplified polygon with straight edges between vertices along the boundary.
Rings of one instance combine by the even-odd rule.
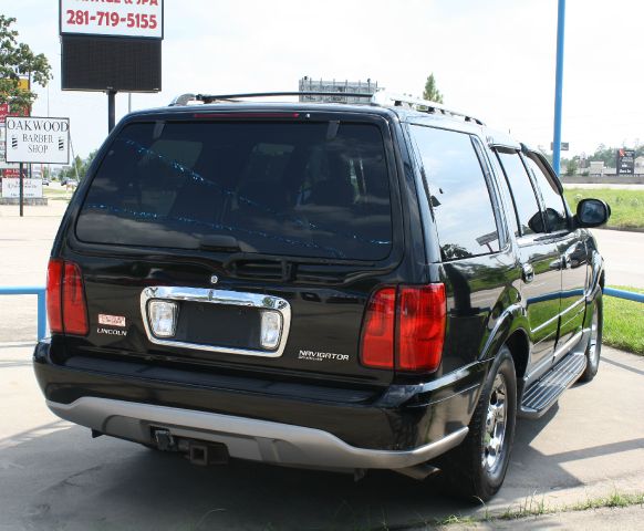
[[[239,103],[243,98],[252,97],[283,97],[283,96],[331,96],[331,97],[355,97],[364,98],[365,104],[377,105],[377,106],[392,106],[392,107],[406,107],[414,111],[429,113],[429,114],[443,114],[446,116],[460,117],[465,122],[472,122],[478,125],[485,125],[485,123],[471,116],[470,114],[461,113],[453,108],[448,108],[442,103],[430,102],[429,100],[423,100],[419,97],[407,96],[405,94],[392,94],[385,91],[376,92],[375,94],[362,94],[352,92],[252,92],[242,94],[181,94],[175,97],[170,106],[184,106],[188,105],[190,102],[200,102],[204,104],[211,104],[217,102],[227,103]],[[340,103],[340,102],[337,102]]]

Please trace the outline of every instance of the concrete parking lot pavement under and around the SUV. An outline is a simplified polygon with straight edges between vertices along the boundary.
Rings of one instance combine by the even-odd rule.
[[[442,496],[436,481],[393,472],[354,482],[243,461],[201,468],[177,455],[92,439],[46,409],[30,356],[30,347],[0,345],[2,531],[354,530],[485,511]],[[546,418],[519,423],[505,487],[487,509],[644,492],[643,378],[643,357],[604,348],[592,383],[572,387]]]

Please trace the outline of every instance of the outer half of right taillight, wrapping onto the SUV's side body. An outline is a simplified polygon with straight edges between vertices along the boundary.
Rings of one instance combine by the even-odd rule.
[[[403,287],[398,293],[398,363],[402,371],[436,371],[443,357],[444,284]]]

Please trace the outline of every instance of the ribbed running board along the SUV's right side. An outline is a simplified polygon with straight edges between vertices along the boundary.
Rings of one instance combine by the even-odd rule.
[[[573,352],[565,356],[523,393],[519,416],[541,417],[578,381],[585,371],[585,364],[583,352]]]

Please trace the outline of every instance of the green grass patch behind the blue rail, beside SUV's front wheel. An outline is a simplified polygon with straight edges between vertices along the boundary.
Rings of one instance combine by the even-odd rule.
[[[619,290],[644,293],[644,290],[612,285]],[[644,356],[644,304],[604,296],[603,343]]]

